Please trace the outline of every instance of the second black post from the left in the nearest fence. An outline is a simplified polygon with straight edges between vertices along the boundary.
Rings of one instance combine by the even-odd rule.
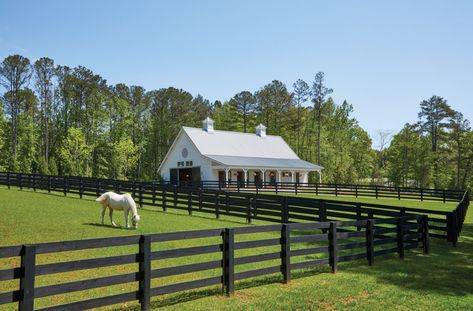
[[[141,235],[140,238],[140,304],[141,310],[151,309],[151,236]]]

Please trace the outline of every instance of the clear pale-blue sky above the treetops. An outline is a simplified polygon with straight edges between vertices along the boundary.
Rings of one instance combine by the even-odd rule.
[[[324,71],[375,139],[436,94],[473,121],[473,1],[8,1],[0,58],[210,100]]]

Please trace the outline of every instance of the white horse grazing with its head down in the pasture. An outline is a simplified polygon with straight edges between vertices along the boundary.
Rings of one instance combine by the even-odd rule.
[[[131,223],[133,228],[138,228],[140,216],[136,210],[135,200],[133,200],[131,195],[128,193],[117,194],[115,192],[105,192],[100,197],[95,199],[95,201],[102,204],[102,225],[104,224],[103,218],[105,216],[105,210],[108,207],[110,209],[110,221],[112,226],[117,227],[117,224],[113,221],[113,210],[117,210],[125,212],[125,228],[129,228],[128,213],[131,211]]]

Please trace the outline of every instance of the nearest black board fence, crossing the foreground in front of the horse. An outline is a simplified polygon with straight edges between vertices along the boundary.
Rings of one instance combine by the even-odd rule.
[[[254,237],[253,234],[262,232],[272,234],[272,238],[251,239]],[[243,241],[239,241],[241,236],[245,236]],[[216,237],[221,238],[217,244],[209,245],[209,242],[206,241],[209,238],[213,238],[215,241]],[[165,250],[160,246],[164,242],[193,239],[198,239],[199,243],[203,245]],[[320,244],[314,247],[314,242]],[[37,256],[41,254],[105,247],[109,249],[125,245],[138,245],[139,251],[111,257],[36,263]],[[154,249],[158,250],[152,251],[152,245]],[[261,247],[266,246],[276,246],[278,251],[268,253],[267,250],[266,252],[264,249],[261,250]],[[225,293],[231,295],[235,290],[235,281],[238,280],[269,274],[282,274],[283,282],[288,282],[291,279],[291,272],[298,269],[330,265],[332,272],[336,272],[339,262],[366,259],[368,264],[372,265],[376,256],[397,253],[400,258],[404,258],[406,250],[418,247],[422,248],[424,253],[429,250],[427,216],[412,215],[346,222],[276,224],[7,246],[0,247],[0,258],[20,257],[21,265],[0,270],[0,281],[8,282],[19,279],[19,288],[0,293],[0,306],[18,303],[19,310],[33,310],[35,309],[35,300],[43,297],[127,284],[125,287],[129,290],[127,292],[123,292],[124,288],[122,287],[116,290],[119,293],[97,298],[90,298],[87,292],[84,292],[80,298],[89,297],[89,299],[68,301],[61,305],[47,304],[40,310],[83,310],[129,301],[139,301],[142,310],[149,310],[150,298],[153,296],[216,285],[220,285]],[[238,256],[240,250],[249,249],[253,250],[251,255]],[[185,261],[190,256],[202,254],[213,254],[214,259],[192,264],[179,264],[178,259]],[[315,254],[318,254],[317,257],[313,256]],[[153,261],[159,262],[170,258],[176,260],[174,266],[152,269],[151,263]],[[266,264],[269,266],[257,269],[250,266],[250,269],[245,269],[245,265],[261,262],[267,262]],[[35,285],[38,276],[44,278],[55,273],[122,266],[131,263],[139,264],[136,271],[103,277],[97,277],[90,271],[83,271],[80,274],[81,279],[77,281],[48,283],[48,285],[40,287]],[[214,270],[214,275],[155,287],[151,283],[157,278],[207,270]],[[84,275],[89,278],[84,279]],[[128,284],[132,282],[138,284]]]

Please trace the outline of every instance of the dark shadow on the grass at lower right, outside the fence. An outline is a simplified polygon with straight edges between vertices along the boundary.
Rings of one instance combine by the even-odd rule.
[[[432,240],[431,240],[432,241]],[[457,247],[444,241],[432,241],[430,254],[421,251],[406,253],[403,261],[383,260],[372,267],[348,263],[341,270],[374,276],[381,284],[395,285],[406,290],[435,293],[444,296],[473,294],[473,224],[464,224]],[[378,261],[382,260],[377,259]]]

